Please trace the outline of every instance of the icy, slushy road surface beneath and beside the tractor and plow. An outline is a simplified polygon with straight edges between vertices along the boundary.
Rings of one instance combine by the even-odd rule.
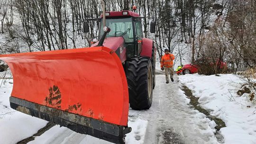
[[[132,132],[126,144],[218,144],[214,136],[216,126],[204,114],[191,108],[180,90],[178,76],[165,83],[165,75],[158,72],[149,110],[129,110],[128,126]],[[68,128],[54,126],[28,144],[112,144],[90,135],[75,133]]]

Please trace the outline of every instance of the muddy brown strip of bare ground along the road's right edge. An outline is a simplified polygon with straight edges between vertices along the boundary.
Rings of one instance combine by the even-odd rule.
[[[196,98],[195,96],[193,96],[192,91],[187,86],[183,85],[182,87],[183,87],[182,90],[185,92],[185,95],[190,99],[189,104],[192,105],[195,109],[197,109],[201,113],[205,114],[207,118],[209,118],[210,120],[213,120],[217,124],[217,126],[214,127],[216,129],[215,136],[218,142],[223,144],[224,137],[219,133],[219,129],[222,127],[226,127],[225,123],[221,119],[215,116],[211,116],[209,111],[202,108],[198,103],[199,98]]]

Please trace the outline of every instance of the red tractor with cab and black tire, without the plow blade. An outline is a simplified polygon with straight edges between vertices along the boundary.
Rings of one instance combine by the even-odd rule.
[[[144,17],[132,11],[106,12],[105,16],[107,27],[103,26],[105,18],[101,15],[97,19],[100,39],[91,47],[104,45],[119,56],[128,82],[130,107],[148,109],[155,87],[155,48],[153,40],[143,38],[141,18]],[[83,28],[89,32],[87,22]],[[151,21],[151,32],[155,32],[154,21]]]

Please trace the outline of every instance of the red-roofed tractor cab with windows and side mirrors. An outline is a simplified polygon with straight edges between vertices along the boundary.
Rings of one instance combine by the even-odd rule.
[[[142,51],[142,39],[143,30],[141,19],[145,17],[140,17],[137,13],[132,11],[115,11],[115,12],[105,12],[105,26],[110,28],[110,32],[107,33],[106,38],[109,37],[123,37],[124,46],[126,47],[126,57],[131,58],[134,55],[140,55]],[[94,20],[94,19],[93,19]],[[104,18],[101,15],[99,27],[99,41],[104,34]],[[86,24],[85,27],[87,32],[89,32],[89,25]],[[155,33],[155,22],[152,21],[150,24],[150,32]]]

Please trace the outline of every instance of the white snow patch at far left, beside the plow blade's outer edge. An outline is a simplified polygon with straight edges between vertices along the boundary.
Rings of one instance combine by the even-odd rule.
[[[16,144],[46,126],[45,120],[18,112],[9,105],[13,80],[0,79],[0,144]]]

